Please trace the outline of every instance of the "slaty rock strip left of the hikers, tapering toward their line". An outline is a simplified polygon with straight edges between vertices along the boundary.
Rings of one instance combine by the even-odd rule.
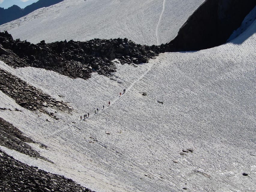
[[[47,107],[65,112],[71,112],[72,110],[72,107],[63,101],[57,101],[51,98],[40,89],[29,85],[25,81],[2,69],[0,69],[0,90],[14,99],[20,106],[31,111],[39,110],[57,120],[59,119],[57,115],[52,112],[47,112]]]

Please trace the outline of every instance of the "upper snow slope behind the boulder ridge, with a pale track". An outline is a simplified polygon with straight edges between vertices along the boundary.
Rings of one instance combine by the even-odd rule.
[[[4,24],[0,30],[31,43],[128,38],[139,44],[161,44],[177,35],[203,1],[66,0]]]

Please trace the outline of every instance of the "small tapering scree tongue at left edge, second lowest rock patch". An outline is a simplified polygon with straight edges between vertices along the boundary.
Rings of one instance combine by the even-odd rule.
[[[27,143],[35,142],[29,137],[25,137],[19,129],[0,117],[0,146],[5,146],[8,149],[13,149],[33,158],[41,158],[49,161],[32,149]]]

